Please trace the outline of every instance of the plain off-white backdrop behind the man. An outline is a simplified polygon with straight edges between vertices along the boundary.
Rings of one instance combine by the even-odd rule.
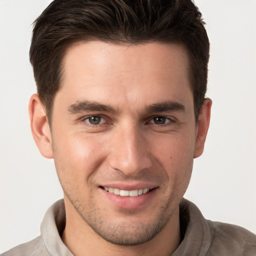
[[[27,114],[35,82],[32,22],[50,0],[0,0],[0,253],[39,235],[62,197],[53,160],[32,139]],[[211,220],[256,233],[256,1],[195,0],[211,43],[205,150],[185,197]]]

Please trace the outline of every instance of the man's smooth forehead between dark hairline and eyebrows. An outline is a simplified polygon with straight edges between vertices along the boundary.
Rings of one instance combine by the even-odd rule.
[[[85,98],[144,107],[159,101],[180,101],[187,94],[191,97],[190,87],[188,55],[180,44],[90,41],[68,48],[57,94],[69,104]]]

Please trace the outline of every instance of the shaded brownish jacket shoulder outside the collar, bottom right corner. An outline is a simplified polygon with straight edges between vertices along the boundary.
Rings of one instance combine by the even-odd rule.
[[[211,231],[211,246],[209,252],[222,253],[221,255],[256,255],[256,235],[247,229],[207,220]],[[223,254],[226,251],[227,254]],[[220,254],[219,254],[220,255]]]

